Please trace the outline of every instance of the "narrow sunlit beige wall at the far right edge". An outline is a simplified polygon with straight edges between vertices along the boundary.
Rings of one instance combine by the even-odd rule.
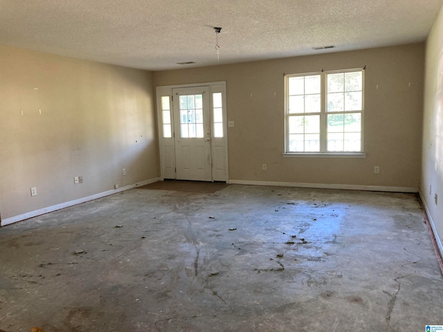
[[[443,8],[426,43],[422,199],[443,239]],[[435,194],[438,195],[435,203]]]

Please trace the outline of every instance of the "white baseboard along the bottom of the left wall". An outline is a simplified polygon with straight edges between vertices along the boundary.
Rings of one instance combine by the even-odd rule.
[[[134,183],[133,185],[125,185],[124,187],[120,187],[120,188],[113,189],[113,190],[108,190],[107,192],[99,192],[98,194],[93,194],[91,196],[82,197],[81,199],[75,199],[73,201],[48,206],[47,208],[42,208],[39,210],[26,212],[24,214],[19,214],[18,216],[11,216],[9,218],[3,219],[1,221],[1,226],[6,226],[6,225],[9,225],[10,223],[17,223],[17,221],[22,221],[25,219],[33,218],[35,216],[39,216],[41,214],[53,212],[56,210],[69,208],[70,206],[85,203],[88,201],[93,201],[94,199],[101,199],[102,197],[109,196],[112,194],[117,194],[118,192],[124,192],[125,190],[133,189],[136,187],[141,187],[142,185],[149,185],[150,183],[154,183],[159,180],[160,180],[160,178],[151,178],[149,180]]]

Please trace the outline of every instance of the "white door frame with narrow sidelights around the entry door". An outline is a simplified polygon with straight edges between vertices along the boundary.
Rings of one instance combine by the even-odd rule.
[[[198,84],[178,84],[168,86],[156,86],[156,111],[157,111],[157,133],[159,138],[159,157],[160,157],[160,178],[177,178],[175,163],[175,142],[174,142],[174,117],[171,116],[172,137],[163,137],[163,110],[161,98],[169,96],[170,113],[174,113],[172,102],[172,89],[193,88],[199,86],[209,87],[209,107],[210,107],[210,127],[211,127],[211,159],[213,181],[225,181],[228,183],[228,116],[226,107],[226,81],[205,82]],[[214,137],[213,122],[213,93],[221,93],[223,108],[223,138]]]

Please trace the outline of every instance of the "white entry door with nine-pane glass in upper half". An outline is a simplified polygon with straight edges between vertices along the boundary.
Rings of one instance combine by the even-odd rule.
[[[172,89],[179,180],[213,181],[209,87]]]

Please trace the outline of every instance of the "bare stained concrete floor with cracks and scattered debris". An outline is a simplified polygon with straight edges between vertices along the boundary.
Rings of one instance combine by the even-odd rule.
[[[1,228],[0,329],[443,324],[443,279],[415,195],[201,185],[141,187]]]

